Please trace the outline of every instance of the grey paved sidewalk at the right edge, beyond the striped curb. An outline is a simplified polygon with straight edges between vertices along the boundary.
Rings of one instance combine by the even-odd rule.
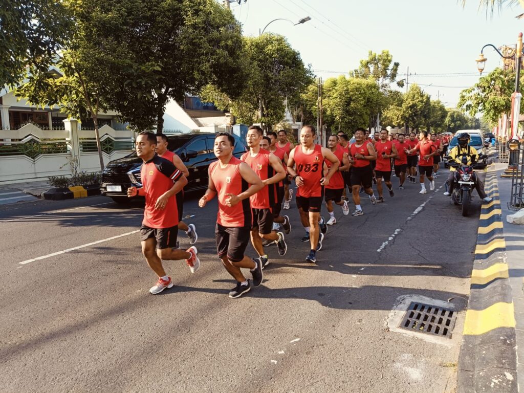
[[[504,224],[504,238],[506,241],[507,264],[509,282],[515,307],[515,331],[517,336],[517,378],[519,391],[524,391],[524,291],[522,278],[524,277],[524,225],[510,224],[506,216],[516,213],[508,209],[511,193],[511,179],[500,177],[506,169],[506,164],[496,164],[498,189],[500,194],[500,208]]]

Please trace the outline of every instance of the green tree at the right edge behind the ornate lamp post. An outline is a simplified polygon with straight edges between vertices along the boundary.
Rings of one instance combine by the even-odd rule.
[[[522,83],[521,77],[520,83]],[[515,73],[511,70],[496,68],[482,77],[471,88],[460,93],[457,107],[471,116],[482,113],[490,124],[495,124],[503,113],[511,112],[511,94],[515,89]],[[524,109],[521,101],[520,111]]]

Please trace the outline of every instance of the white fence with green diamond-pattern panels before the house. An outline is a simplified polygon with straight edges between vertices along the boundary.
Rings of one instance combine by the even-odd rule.
[[[34,124],[0,130],[0,184],[71,176],[74,158],[79,172],[100,171],[94,130],[79,129],[74,119],[64,124],[65,130],[42,130]],[[105,165],[133,151],[131,131],[104,125],[99,132]]]

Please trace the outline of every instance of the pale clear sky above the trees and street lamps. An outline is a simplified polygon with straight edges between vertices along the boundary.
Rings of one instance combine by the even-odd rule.
[[[399,79],[409,67],[409,82],[417,82],[432,99],[454,107],[463,88],[478,80],[475,59],[486,43],[514,45],[524,19],[520,7],[504,8],[492,17],[478,9],[478,0],[247,0],[231,9],[244,35],[257,36],[272,19],[292,21],[310,16],[303,25],[278,20],[266,31],[281,34],[323,79],[358,67],[369,50],[388,49],[400,63]],[[498,67],[498,54],[486,48],[483,74]],[[329,71],[329,72],[328,72]],[[435,75],[459,73],[461,75]],[[418,75],[420,74],[420,75]],[[428,75],[430,74],[430,75]],[[450,87],[453,86],[453,87]]]

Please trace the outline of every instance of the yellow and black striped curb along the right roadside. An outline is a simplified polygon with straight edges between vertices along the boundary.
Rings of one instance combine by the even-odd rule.
[[[485,190],[493,201],[482,205],[478,224],[457,367],[459,393],[518,391],[515,313],[493,165],[486,172]]]

